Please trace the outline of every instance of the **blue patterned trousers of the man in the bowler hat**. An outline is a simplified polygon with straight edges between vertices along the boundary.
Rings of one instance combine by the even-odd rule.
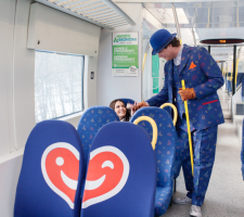
[[[216,142],[218,126],[203,130],[194,130],[192,135],[194,177],[192,176],[191,157],[188,132],[178,128],[177,133],[179,144],[177,146],[182,164],[188,197],[192,199],[192,204],[202,206],[207,187],[209,183],[211,169],[215,162]]]

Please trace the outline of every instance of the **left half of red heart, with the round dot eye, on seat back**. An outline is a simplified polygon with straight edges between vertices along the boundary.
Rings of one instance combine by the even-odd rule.
[[[41,171],[48,186],[74,209],[79,152],[65,142],[49,145],[41,157]]]

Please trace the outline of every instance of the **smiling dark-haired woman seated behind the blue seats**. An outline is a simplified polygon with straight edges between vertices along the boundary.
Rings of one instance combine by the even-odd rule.
[[[129,122],[130,117],[133,115],[133,111],[127,110],[126,104],[118,99],[112,101],[110,107],[115,111],[120,122]]]

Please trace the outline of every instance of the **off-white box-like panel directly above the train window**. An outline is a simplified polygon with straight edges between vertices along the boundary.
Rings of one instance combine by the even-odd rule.
[[[101,27],[86,21],[40,3],[33,3],[27,47],[97,56],[100,30]]]

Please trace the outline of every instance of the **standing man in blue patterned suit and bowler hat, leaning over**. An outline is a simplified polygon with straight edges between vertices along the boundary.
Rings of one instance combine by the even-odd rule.
[[[203,205],[215,161],[218,125],[224,123],[217,90],[223,85],[222,73],[205,48],[181,46],[176,34],[157,30],[150,39],[152,54],[164,58],[165,85],[160,92],[141,102],[142,106],[160,106],[169,102],[177,106],[179,116],[177,133],[180,143],[180,161],[188,194],[175,197],[177,204],[192,204],[190,215],[202,217]],[[185,81],[185,90],[181,80]],[[190,128],[194,152],[192,176],[184,102],[188,100]]]

